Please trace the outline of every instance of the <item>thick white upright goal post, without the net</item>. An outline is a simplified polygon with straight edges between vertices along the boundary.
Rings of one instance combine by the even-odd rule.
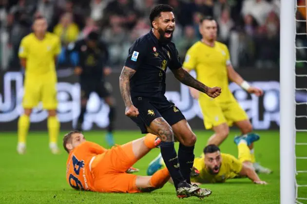
[[[295,6],[280,10],[280,202],[295,204]]]

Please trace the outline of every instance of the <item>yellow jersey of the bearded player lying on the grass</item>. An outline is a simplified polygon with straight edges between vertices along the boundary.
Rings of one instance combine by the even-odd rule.
[[[242,170],[242,163],[234,156],[221,153],[222,164],[218,174],[212,175],[206,168],[205,157],[201,156],[194,159],[194,167],[199,170],[197,177],[192,177],[192,182],[197,183],[224,183],[227,179],[239,176]]]

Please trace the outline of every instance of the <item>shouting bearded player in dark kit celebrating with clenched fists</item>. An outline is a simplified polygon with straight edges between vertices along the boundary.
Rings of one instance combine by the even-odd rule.
[[[125,114],[142,133],[153,133],[161,139],[161,154],[174,181],[177,196],[205,197],[211,194],[211,190],[191,185],[196,136],[180,110],[164,95],[166,70],[170,68],[181,83],[211,98],[218,97],[221,88],[204,85],[182,68],[175,44],[171,41],[175,29],[171,6],[155,6],[150,22],[152,30],[134,41],[119,77]],[[180,143],[178,155],[174,137]]]

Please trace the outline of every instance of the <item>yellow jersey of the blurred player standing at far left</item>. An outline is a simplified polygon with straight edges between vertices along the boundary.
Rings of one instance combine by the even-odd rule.
[[[57,35],[46,33],[43,40],[35,34],[26,35],[19,46],[19,57],[26,59],[25,76],[41,80],[56,78],[55,57],[61,51]]]

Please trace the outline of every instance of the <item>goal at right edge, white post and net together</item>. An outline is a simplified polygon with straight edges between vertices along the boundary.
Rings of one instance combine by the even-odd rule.
[[[307,0],[281,0],[280,200],[307,204]]]

